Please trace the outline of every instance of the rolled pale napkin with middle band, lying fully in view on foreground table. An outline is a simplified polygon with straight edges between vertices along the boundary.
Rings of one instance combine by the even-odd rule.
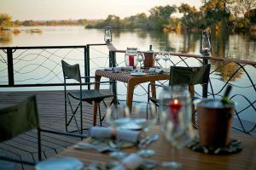
[[[137,143],[140,132],[128,129],[116,129],[113,127],[90,127],[89,135],[95,139],[110,139],[123,140],[126,142]]]

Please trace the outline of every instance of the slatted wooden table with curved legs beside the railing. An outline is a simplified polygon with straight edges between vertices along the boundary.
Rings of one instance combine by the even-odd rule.
[[[126,106],[131,111],[134,89],[138,84],[143,82],[151,82],[152,83],[151,96],[155,98],[156,96],[155,86],[154,86],[155,81],[168,80],[170,78],[170,75],[169,74],[146,74],[143,76],[138,76],[136,74],[132,75],[131,72],[127,72],[127,71],[114,72],[114,71],[109,71],[105,69],[96,70],[95,82],[100,82],[102,77],[109,78],[113,81],[127,83]],[[100,85],[96,84],[95,89],[99,89],[99,88],[100,88]],[[93,108],[93,113],[94,113],[93,125],[94,126],[96,125],[97,108],[98,108],[98,104],[94,103],[94,108]]]

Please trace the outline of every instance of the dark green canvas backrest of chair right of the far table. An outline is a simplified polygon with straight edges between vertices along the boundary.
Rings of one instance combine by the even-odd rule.
[[[210,64],[199,67],[171,66],[169,85],[188,84],[191,97],[194,97],[194,85],[208,84],[210,69]]]

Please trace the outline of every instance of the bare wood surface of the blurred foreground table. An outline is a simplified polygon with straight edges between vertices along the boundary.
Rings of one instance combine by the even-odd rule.
[[[155,127],[150,133],[157,132],[159,132],[159,127]],[[241,140],[243,146],[241,152],[230,155],[207,155],[183,148],[176,152],[174,159],[183,164],[182,169],[256,169],[256,137],[232,134],[231,138]],[[160,134],[160,139],[157,142],[148,146],[148,149],[155,150],[155,155],[148,158],[150,160],[160,162],[171,160],[172,145],[164,139],[162,134]],[[137,147],[134,146],[122,151],[131,153],[137,150]],[[76,157],[83,161],[85,166],[92,161],[107,163],[114,160],[108,156],[108,153],[102,154],[95,150],[76,150],[73,147],[67,148],[59,156]],[[157,169],[163,169],[163,167],[157,167]]]

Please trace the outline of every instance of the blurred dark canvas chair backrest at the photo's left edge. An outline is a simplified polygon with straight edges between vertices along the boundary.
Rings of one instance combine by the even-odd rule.
[[[0,110],[0,142],[39,127],[36,96]]]

